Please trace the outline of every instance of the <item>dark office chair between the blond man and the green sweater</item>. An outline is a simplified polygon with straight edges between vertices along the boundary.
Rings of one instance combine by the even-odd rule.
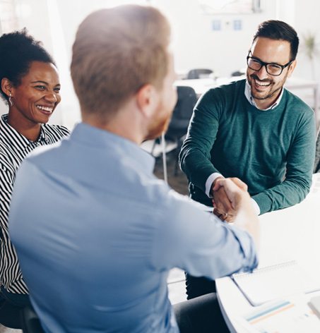
[[[172,140],[177,143],[176,152],[179,154],[186,132],[188,131],[189,122],[197,102],[196,92],[191,87],[177,87],[178,100],[174,107],[172,117],[165,134],[166,140]],[[177,176],[178,158],[174,166],[174,176]]]

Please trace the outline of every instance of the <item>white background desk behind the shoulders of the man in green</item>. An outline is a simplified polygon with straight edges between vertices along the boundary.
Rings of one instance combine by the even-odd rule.
[[[232,81],[242,80],[245,78],[243,76],[233,76],[230,78],[201,78],[201,79],[194,79],[194,80],[177,80],[175,85],[184,85],[193,87],[196,95],[200,97],[204,92],[211,89],[212,87],[218,87],[220,85],[226,85],[231,83]],[[319,126],[319,85],[316,81],[313,80],[305,80],[302,78],[288,78],[285,87],[295,93],[295,90],[299,89],[312,89],[314,90],[314,116],[316,119],[316,128]]]

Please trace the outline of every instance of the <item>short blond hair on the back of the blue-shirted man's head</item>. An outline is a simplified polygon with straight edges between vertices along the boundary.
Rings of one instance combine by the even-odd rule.
[[[81,112],[108,121],[146,84],[162,87],[170,25],[149,6],[117,6],[91,13],[73,44],[71,77]]]

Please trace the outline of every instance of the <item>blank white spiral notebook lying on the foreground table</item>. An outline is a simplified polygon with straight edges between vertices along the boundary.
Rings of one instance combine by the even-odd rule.
[[[231,278],[254,306],[320,290],[320,281],[307,274],[295,260],[258,268],[251,273],[232,274]]]

